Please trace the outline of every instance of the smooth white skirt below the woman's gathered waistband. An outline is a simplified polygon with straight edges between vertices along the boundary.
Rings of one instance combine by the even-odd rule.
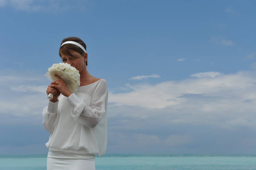
[[[47,170],[95,170],[95,160],[47,157]]]

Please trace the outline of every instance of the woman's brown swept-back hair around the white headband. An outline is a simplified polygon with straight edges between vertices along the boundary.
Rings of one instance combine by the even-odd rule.
[[[66,41],[75,41],[75,42],[81,44],[86,50],[85,43],[78,37],[67,37],[67,38],[65,38],[61,41],[61,44],[66,42]],[[78,57],[80,57],[80,56],[77,56],[75,54],[71,54],[69,50],[74,50],[74,51],[78,52],[79,54],[81,54],[81,56],[85,55],[85,52],[79,46],[77,46],[75,44],[64,44],[59,48],[59,56],[61,57],[61,53],[62,53],[64,55],[67,55],[69,58],[78,58]],[[86,61],[85,64],[87,66],[87,61]]]

